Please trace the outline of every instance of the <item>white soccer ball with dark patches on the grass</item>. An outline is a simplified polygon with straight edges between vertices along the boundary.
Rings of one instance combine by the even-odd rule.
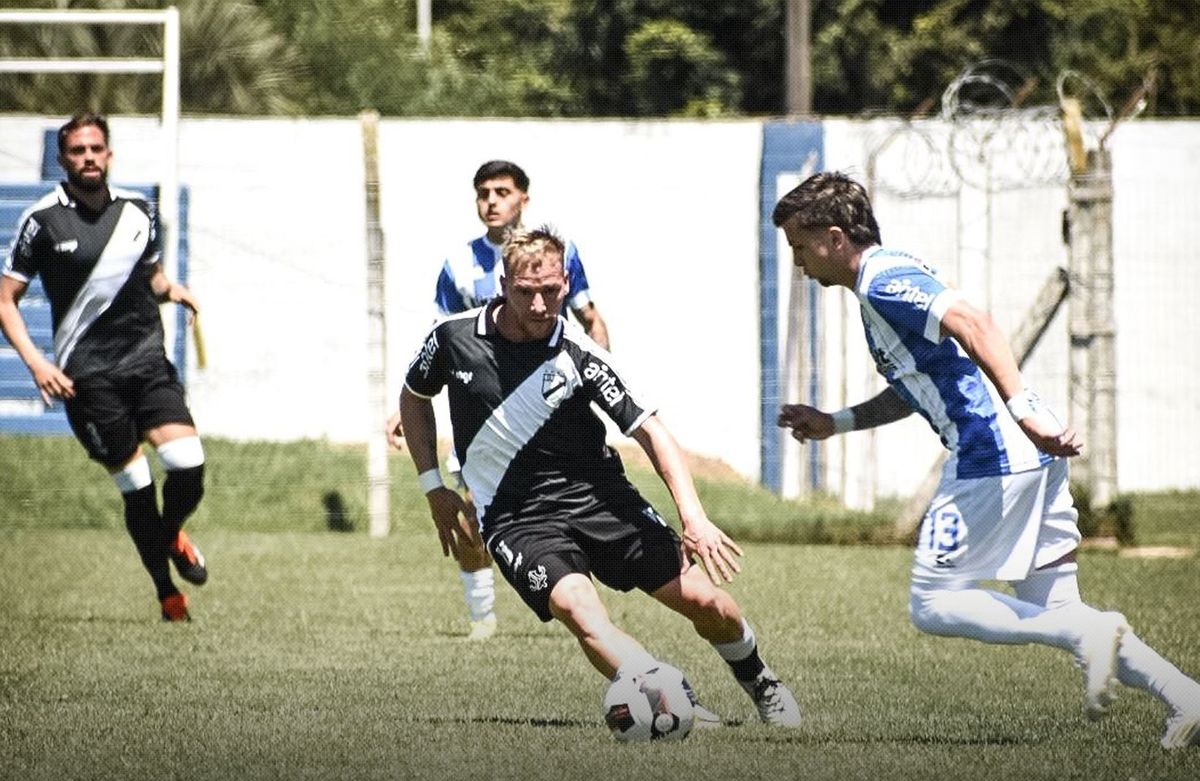
[[[636,675],[620,675],[604,696],[604,720],[620,743],[683,740],[695,716],[683,673],[659,662]]]

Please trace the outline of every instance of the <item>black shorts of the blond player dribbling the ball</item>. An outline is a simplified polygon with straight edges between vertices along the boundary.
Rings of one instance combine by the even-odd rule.
[[[554,584],[572,572],[652,593],[683,566],[679,536],[632,486],[569,513],[504,513],[486,534],[496,566],[544,621]]]

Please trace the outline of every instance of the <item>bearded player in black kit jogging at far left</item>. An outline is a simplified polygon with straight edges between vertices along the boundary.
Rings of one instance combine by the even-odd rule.
[[[158,305],[198,305],[160,263],[156,217],[140,193],[108,185],[113,152],[103,116],[80,113],[59,130],[60,184],[20,218],[0,276],[0,329],[47,404],[62,399],[88,455],[112,474],[125,524],[150,573],[163,620],[188,620],[172,581],[208,579],[204,557],[182,531],[204,493],[204,450],[175,367],[163,349]],[[34,344],[17,304],[41,276],[54,324],[52,362]],[[167,471],[162,510],[142,449]]]

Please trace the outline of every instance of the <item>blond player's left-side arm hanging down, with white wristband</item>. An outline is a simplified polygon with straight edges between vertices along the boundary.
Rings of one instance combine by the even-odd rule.
[[[408,452],[413,456],[425,499],[430,503],[430,516],[438,530],[442,554],[454,555],[457,559],[460,543],[466,545],[472,535],[475,513],[457,491],[442,485],[438,475],[438,425],[433,416],[433,402],[404,388],[400,391],[400,419]],[[478,531],[475,534],[478,535]]]

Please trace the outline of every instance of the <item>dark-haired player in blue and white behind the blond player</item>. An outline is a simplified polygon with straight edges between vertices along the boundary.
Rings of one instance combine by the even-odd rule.
[[[475,172],[475,210],[487,232],[450,253],[438,274],[434,302],[438,314],[446,317],[481,306],[500,293],[504,270],[502,247],[509,232],[521,227],[529,203],[529,176],[524,169],[506,160],[487,161]],[[570,310],[595,342],[608,349],[608,328],[600,310],[592,300],[588,277],[578,250],[566,244],[565,265],[571,294],[563,302],[563,314]],[[398,446],[398,417],[388,422],[389,437]],[[455,482],[458,461],[455,453],[446,461],[446,469]],[[467,602],[470,639],[487,639],[496,632],[496,581],[492,560],[478,534],[468,534],[458,546],[455,559]]]

